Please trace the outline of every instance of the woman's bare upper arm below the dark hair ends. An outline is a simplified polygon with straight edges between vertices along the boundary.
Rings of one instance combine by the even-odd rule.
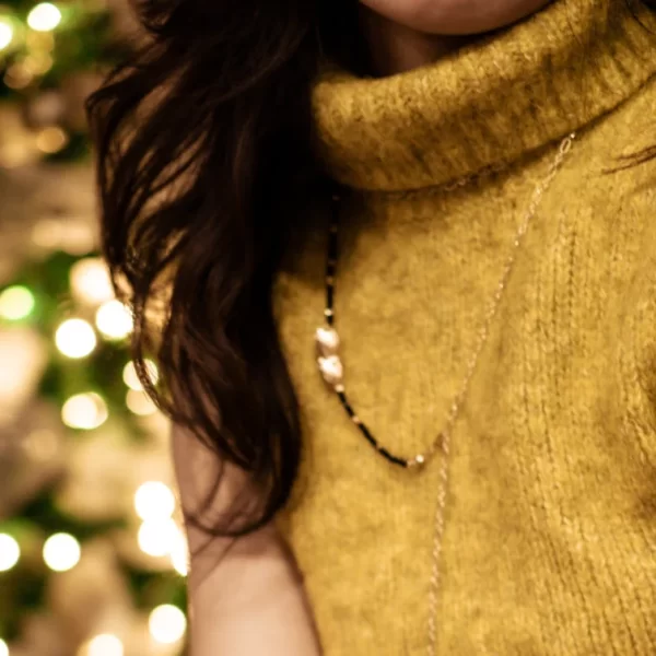
[[[221,464],[194,436],[173,432],[181,503],[202,502]],[[208,522],[229,507],[244,477],[225,466]],[[191,656],[318,656],[312,612],[294,560],[273,525],[236,541],[187,527],[192,554],[189,572]],[[207,544],[207,546],[206,546]],[[206,546],[198,554],[196,550]]]

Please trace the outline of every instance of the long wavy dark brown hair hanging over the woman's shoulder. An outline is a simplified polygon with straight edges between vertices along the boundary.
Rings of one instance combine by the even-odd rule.
[[[327,181],[313,156],[312,80],[323,61],[364,61],[358,2],[143,0],[138,9],[148,40],[89,102],[104,253],[133,307],[144,385],[262,491],[255,515],[202,525],[241,535],[288,503],[297,475],[298,408],[272,284]],[[149,384],[147,354],[163,390]]]

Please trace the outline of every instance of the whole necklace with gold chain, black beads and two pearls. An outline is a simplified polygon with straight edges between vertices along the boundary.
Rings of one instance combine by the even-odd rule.
[[[460,409],[465,402],[467,394],[469,391],[469,385],[471,383],[471,378],[476,371],[480,354],[485,345],[489,335],[490,327],[494,317],[496,316],[496,312],[499,309],[499,305],[501,304],[501,298],[506,289],[507,281],[511,277],[511,272],[513,270],[513,266],[516,260],[517,251],[519,246],[522,245],[524,235],[526,234],[528,226],[531,220],[535,218],[538,207],[540,204],[540,200],[542,199],[542,195],[553,181],[555,174],[561,168],[562,163],[565,160],[565,156],[572,149],[572,144],[574,142],[576,134],[574,132],[567,134],[560,143],[560,148],[558,153],[549,167],[549,171],[541,183],[537,185],[534,189],[534,194],[528,206],[528,210],[524,220],[519,225],[519,230],[517,231],[514,239],[513,247],[511,250],[511,255],[508,256],[506,263],[503,269],[503,273],[501,279],[499,280],[496,290],[494,292],[494,296],[490,304],[490,308],[488,314],[485,315],[485,320],[483,321],[483,326],[479,332],[479,340],[477,347],[473,351],[472,356],[469,360],[467,366],[467,375],[462,382],[462,386],[460,391],[454,398],[454,401],[450,407],[450,411],[446,421],[445,427],[437,435],[436,440],[431,444],[429,449],[423,454],[419,454],[411,458],[399,457],[390,453],[383,445],[378,443],[378,441],[373,436],[371,431],[366,427],[366,425],[362,422],[360,417],[355,413],[353,408],[351,407],[344,389],[343,376],[344,370],[342,361],[339,356],[339,344],[340,338],[335,329],[335,309],[333,309],[333,300],[335,300],[335,277],[337,271],[337,255],[338,255],[338,242],[337,234],[339,229],[339,212],[337,210],[333,212],[332,222],[330,225],[330,236],[329,236],[329,246],[328,246],[328,262],[326,268],[326,311],[325,317],[327,326],[318,328],[316,331],[316,345],[318,352],[318,365],[319,372],[324,377],[324,380],[333,389],[333,391],[339,397],[340,402],[344,407],[348,415],[351,418],[351,421],[355,424],[355,426],[360,430],[360,432],[364,435],[366,441],[379,453],[385,459],[389,462],[405,467],[408,469],[419,470],[423,468],[430,460],[433,459],[435,454],[441,450],[442,452],[442,462],[440,467],[440,489],[437,492],[437,506],[435,511],[435,522],[434,522],[434,538],[433,538],[433,551],[432,551],[432,571],[431,571],[431,586],[429,593],[429,645],[427,645],[427,654],[429,656],[435,656],[436,654],[436,616],[437,616],[437,596],[440,591],[440,563],[442,555],[442,542],[444,536],[444,514],[446,508],[446,495],[448,490],[448,475],[449,475],[449,452],[450,452],[450,438],[454,424],[458,418]],[[454,189],[459,186],[464,186],[471,181],[476,175],[468,176],[459,179],[455,184],[449,185],[447,189]],[[333,197],[333,201],[337,206],[339,202],[339,197]]]

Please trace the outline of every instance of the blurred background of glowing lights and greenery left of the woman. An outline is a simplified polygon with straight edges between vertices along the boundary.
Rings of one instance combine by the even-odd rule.
[[[0,4],[0,656],[184,653],[168,427],[97,255],[83,112],[136,38],[122,2]]]

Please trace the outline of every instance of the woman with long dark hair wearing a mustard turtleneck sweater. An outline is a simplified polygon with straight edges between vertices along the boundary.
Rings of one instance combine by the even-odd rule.
[[[91,116],[192,653],[656,653],[653,8],[143,20]]]

